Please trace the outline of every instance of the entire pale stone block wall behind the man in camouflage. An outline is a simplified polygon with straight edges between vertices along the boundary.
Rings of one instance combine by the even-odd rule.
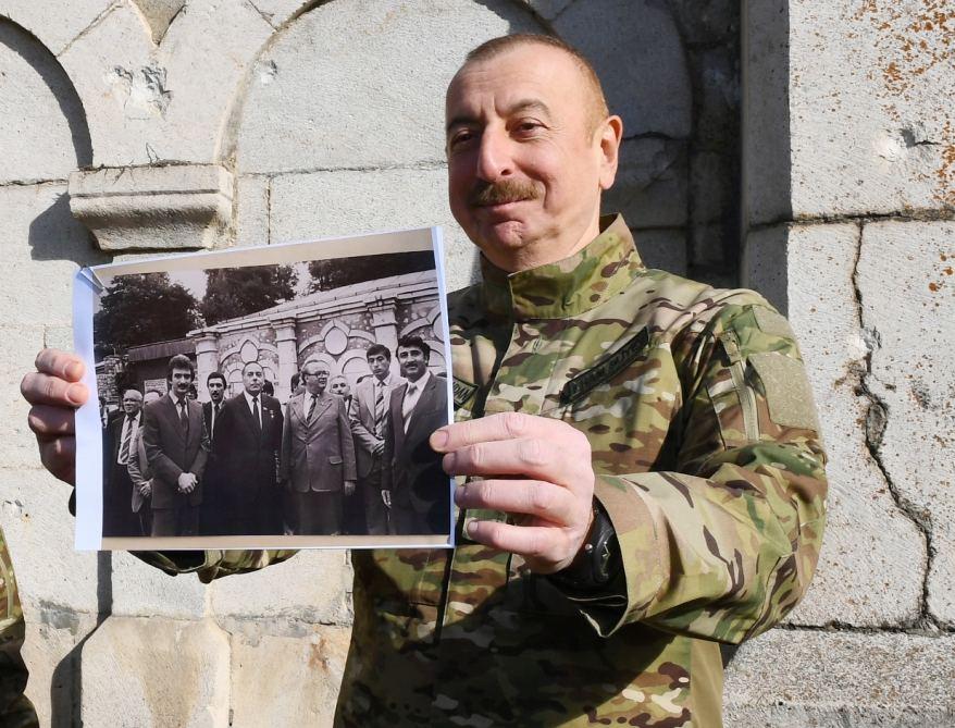
[[[806,602],[732,659],[728,725],[955,721],[955,21],[882,4],[0,0],[0,521],[44,724],[328,725],[347,554],[202,585],[73,552],[15,382],[71,346],[72,273],[111,256],[441,223],[469,282],[443,94],[519,30],[593,58],[627,126],[606,207],[648,262],[733,284],[742,254],[802,335],[831,527]]]

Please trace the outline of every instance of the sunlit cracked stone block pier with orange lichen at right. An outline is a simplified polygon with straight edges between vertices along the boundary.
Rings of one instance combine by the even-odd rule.
[[[955,725],[955,8],[745,9],[743,274],[801,335],[831,495],[814,588],[737,653],[728,719]]]

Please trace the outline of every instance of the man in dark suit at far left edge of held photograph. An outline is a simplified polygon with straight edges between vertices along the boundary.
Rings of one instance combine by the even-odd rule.
[[[139,430],[142,395],[138,390],[123,392],[123,415],[108,425],[109,447],[103,468],[103,535],[131,536],[139,534],[139,519],[129,507],[129,456],[133,453],[136,432]]]

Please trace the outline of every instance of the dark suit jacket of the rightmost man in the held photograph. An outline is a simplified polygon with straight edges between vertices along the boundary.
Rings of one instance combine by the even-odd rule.
[[[446,380],[434,374],[429,378],[405,432],[401,405],[407,390],[406,382],[392,391],[382,488],[392,492],[393,509],[427,514],[444,504],[449,508],[449,477],[441,467],[442,456],[427,444],[431,434],[448,423]]]

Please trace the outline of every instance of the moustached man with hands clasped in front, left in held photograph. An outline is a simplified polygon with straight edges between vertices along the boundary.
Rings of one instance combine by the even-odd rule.
[[[146,408],[142,441],[152,470],[151,535],[196,535],[209,436],[202,406],[189,398],[195,370],[189,358],[169,360],[169,394]]]

